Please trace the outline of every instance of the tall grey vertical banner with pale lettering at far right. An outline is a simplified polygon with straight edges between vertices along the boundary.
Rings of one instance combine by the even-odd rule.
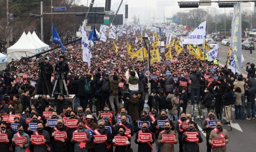
[[[232,19],[232,34],[231,34],[231,47],[232,47],[232,53],[234,56],[234,60],[236,62],[236,67],[241,71],[242,67],[242,48],[241,48],[241,3],[237,3],[234,5],[234,13],[233,13],[233,19]]]

